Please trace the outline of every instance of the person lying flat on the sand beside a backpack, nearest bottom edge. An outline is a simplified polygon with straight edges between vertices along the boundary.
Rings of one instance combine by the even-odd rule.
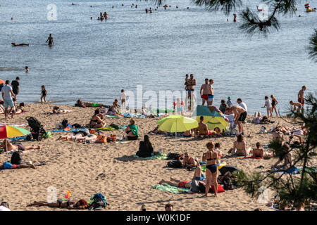
[[[48,206],[52,208],[67,208],[68,210],[71,210],[71,209],[87,209],[89,207],[89,204],[86,202],[86,200],[83,200],[83,199],[77,202],[74,202],[74,201],[68,202],[68,201],[58,199],[56,203],[46,203],[44,201],[34,202],[27,205],[27,207],[30,207],[30,206]]]

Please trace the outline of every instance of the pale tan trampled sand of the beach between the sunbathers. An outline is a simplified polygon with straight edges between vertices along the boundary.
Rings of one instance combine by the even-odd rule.
[[[73,110],[68,114],[46,115],[53,105],[26,104],[26,113],[15,115],[7,123],[27,124],[25,117],[36,117],[44,124],[44,129],[54,128],[56,123],[67,119],[70,124],[87,124],[93,115],[94,108],[75,108],[70,105],[58,105],[63,109]],[[0,115],[1,122],[5,122],[4,115]],[[251,115],[248,116],[251,119]],[[107,124],[128,125],[130,119],[108,119]],[[144,134],[156,127],[156,118],[136,119],[139,127],[139,140],[127,143],[77,143],[75,141],[56,141],[59,134],[52,133],[52,137],[38,141],[23,141],[24,146],[39,145],[42,149],[22,154],[23,162],[32,160],[34,164],[46,162],[46,165],[37,169],[6,169],[0,171],[0,200],[10,203],[11,210],[65,210],[50,207],[26,207],[33,201],[46,201],[46,188],[53,186],[57,190],[57,198],[63,198],[70,190],[72,200],[89,198],[94,193],[103,193],[110,204],[105,210],[139,210],[142,203],[147,210],[163,211],[166,203],[173,203],[175,210],[254,210],[261,207],[271,210],[270,207],[258,203],[254,198],[241,189],[219,193],[217,198],[202,197],[202,193],[173,194],[160,191],[151,186],[158,184],[161,179],[192,179],[193,172],[186,169],[165,168],[168,160],[142,160],[134,158],[139,148],[139,141]],[[276,124],[287,124],[280,118],[273,118]],[[266,129],[272,124],[264,125]],[[254,147],[257,141],[261,144],[271,141],[272,134],[257,134],[262,125],[245,124],[247,146]],[[30,127],[25,127],[30,129]],[[124,131],[105,131],[105,134],[123,136]],[[252,137],[247,138],[251,134]],[[154,150],[161,149],[163,153],[175,152],[175,139],[161,135],[149,135]],[[196,140],[194,138],[178,138],[176,152],[187,151],[201,160],[208,141],[219,142],[220,150],[227,153],[232,147],[235,137],[222,137]],[[0,154],[0,161],[6,160],[6,154]],[[244,172],[264,172],[271,168],[277,159],[223,159],[227,165],[236,166]],[[313,158],[316,165],[316,157]],[[259,169],[262,165],[264,168]]]

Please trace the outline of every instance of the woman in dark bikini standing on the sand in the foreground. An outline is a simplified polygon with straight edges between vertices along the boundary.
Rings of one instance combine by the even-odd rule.
[[[213,182],[214,188],[215,188],[215,196],[217,196],[218,193],[218,181],[217,181],[217,171],[218,167],[216,164],[218,153],[216,152],[215,144],[211,141],[206,144],[206,147],[208,148],[208,152],[203,154],[202,161],[207,160],[206,164],[206,193],[205,196],[207,196],[209,192],[209,188],[211,185],[211,181]]]

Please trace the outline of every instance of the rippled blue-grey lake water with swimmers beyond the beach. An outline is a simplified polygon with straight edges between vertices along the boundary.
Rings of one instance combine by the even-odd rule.
[[[132,3],[138,8],[131,8]],[[47,100],[72,105],[77,98],[110,104],[121,89],[133,91],[136,98],[137,84],[143,94],[155,91],[159,96],[159,91],[183,91],[186,73],[197,79],[197,93],[205,77],[214,80],[214,105],[228,96],[234,103],[241,97],[249,113],[265,111],[266,95],[274,94],[285,111],[290,100],[297,101],[302,85],[306,92],[316,91],[317,64],[306,47],[317,28],[317,13],[305,13],[304,3],[296,15],[280,18],[281,30],[267,39],[247,37],[232,14],[227,22],[223,13],[184,0],[167,1],[170,8],[153,13],[145,13],[146,7],[156,8],[151,1],[0,4],[0,79],[20,77],[18,101],[38,102],[42,84],[49,91]],[[49,4],[56,5],[57,20],[47,20]],[[256,9],[259,2],[244,4]],[[317,0],[310,4],[317,7]],[[97,20],[104,11],[108,20]],[[45,45],[50,33],[51,48]],[[30,46],[12,47],[11,42]],[[24,72],[25,65],[30,72]]]

